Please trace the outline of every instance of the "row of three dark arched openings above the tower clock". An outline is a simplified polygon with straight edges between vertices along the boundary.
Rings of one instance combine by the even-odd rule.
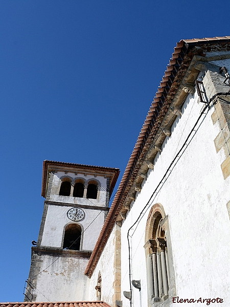
[[[73,195],[71,195],[72,182],[70,178],[63,178],[60,186],[59,195],[74,196],[96,200],[98,197],[98,183],[95,180],[88,182],[87,186],[82,179],[77,179],[74,183]]]

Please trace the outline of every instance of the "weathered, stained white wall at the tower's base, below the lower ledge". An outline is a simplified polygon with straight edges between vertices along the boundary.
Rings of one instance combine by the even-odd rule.
[[[40,256],[42,261],[40,272],[44,271],[37,276],[34,290],[34,294],[37,295],[36,301],[87,300],[89,279],[84,275],[84,270],[88,259],[57,258],[58,256]],[[57,261],[54,262],[55,259]]]

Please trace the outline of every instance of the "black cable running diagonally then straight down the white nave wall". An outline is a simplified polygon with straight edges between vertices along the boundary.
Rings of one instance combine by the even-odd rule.
[[[130,242],[129,242],[129,237],[131,237],[129,235],[129,232],[130,230],[135,226],[135,224],[137,222],[139,222],[139,219],[141,218],[143,212],[145,211],[146,207],[149,205],[150,201],[152,200],[153,198],[153,195],[155,194],[155,192],[157,191],[158,187],[160,186],[160,184],[163,183],[164,179],[166,178],[168,172],[170,171],[170,168],[171,166],[173,165],[173,163],[176,161],[177,157],[179,157],[181,151],[183,150],[183,148],[186,146],[187,144],[187,141],[189,140],[190,136],[192,135],[193,131],[195,130],[200,118],[202,117],[202,115],[204,114],[204,112],[206,111],[206,109],[208,108],[208,111],[210,109],[210,103],[212,101],[214,101],[218,96],[221,96],[221,95],[230,95],[230,93],[217,93],[215,95],[212,96],[212,98],[209,100],[208,103],[205,104],[202,112],[200,113],[196,123],[194,124],[193,128],[191,129],[188,137],[186,138],[185,142],[183,143],[183,145],[180,147],[179,151],[177,152],[176,156],[173,158],[172,162],[170,163],[168,169],[166,170],[163,178],[160,180],[160,182],[158,183],[158,185],[156,186],[155,190],[153,191],[152,195],[150,196],[150,199],[148,200],[147,204],[144,206],[144,208],[142,209],[141,213],[139,214],[139,216],[137,217],[136,221],[134,222],[134,224],[128,229],[128,232],[127,232],[127,240],[128,240],[128,253],[129,253],[129,285],[130,285],[130,307],[132,307],[132,282],[131,282],[131,257],[130,257]],[[228,102],[226,102],[227,104],[230,104]],[[213,104],[215,104],[215,101],[213,102]]]

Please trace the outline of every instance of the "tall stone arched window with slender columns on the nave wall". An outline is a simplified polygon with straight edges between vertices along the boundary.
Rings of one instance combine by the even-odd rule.
[[[172,287],[167,237],[169,236],[168,216],[161,205],[152,207],[146,228],[146,256],[149,303],[164,301],[169,297]],[[174,287],[173,287],[174,288]]]

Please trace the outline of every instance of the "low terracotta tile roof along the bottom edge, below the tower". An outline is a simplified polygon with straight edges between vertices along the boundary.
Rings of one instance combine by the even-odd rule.
[[[80,301],[80,302],[23,302],[23,303],[0,303],[0,307],[110,307],[103,301]]]

